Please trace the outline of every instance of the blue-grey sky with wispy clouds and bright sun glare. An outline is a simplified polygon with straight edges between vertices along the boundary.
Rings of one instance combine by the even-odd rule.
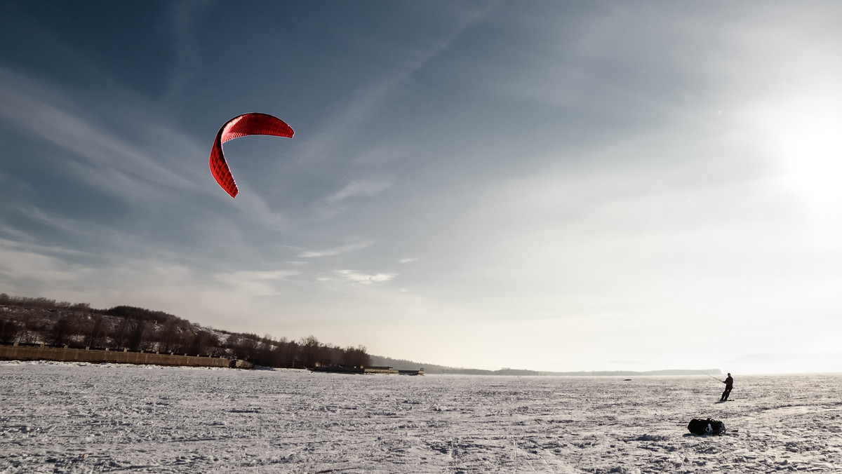
[[[842,371],[842,3],[0,4],[0,292],[496,370]],[[292,138],[224,149],[262,112]]]

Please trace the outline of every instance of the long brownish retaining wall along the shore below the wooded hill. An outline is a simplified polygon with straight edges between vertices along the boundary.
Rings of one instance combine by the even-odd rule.
[[[253,366],[244,360],[222,357],[19,345],[0,346],[0,360],[56,360],[59,362],[91,362],[94,364],[109,362],[113,364],[235,367],[238,369],[251,369]]]

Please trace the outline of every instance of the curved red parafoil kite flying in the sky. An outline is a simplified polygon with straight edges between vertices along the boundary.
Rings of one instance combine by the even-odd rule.
[[[243,114],[237,115],[228,120],[225,125],[216,133],[216,140],[213,148],[210,149],[210,173],[216,178],[216,183],[225,189],[231,197],[237,197],[237,184],[228,163],[225,161],[225,154],[222,153],[222,144],[226,141],[248,135],[272,135],[286,136],[292,138],[295,132],[284,120],[268,114]]]

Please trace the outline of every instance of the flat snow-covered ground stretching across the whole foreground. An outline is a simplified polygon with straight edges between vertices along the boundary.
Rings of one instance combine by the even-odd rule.
[[[4,362],[0,472],[842,471],[842,375],[734,378]]]

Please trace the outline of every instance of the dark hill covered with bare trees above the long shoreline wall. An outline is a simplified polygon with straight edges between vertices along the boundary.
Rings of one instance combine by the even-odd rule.
[[[135,306],[94,309],[44,297],[0,293],[0,344],[128,349],[225,356],[268,367],[370,366],[365,347],[340,348],[314,336],[293,341],[205,328],[167,312]]]

